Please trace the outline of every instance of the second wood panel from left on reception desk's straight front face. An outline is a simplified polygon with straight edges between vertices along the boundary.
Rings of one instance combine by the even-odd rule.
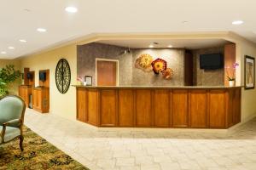
[[[119,126],[134,126],[134,93],[132,90],[119,90]]]

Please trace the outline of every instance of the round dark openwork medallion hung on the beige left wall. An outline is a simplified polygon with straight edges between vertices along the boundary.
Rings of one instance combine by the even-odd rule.
[[[67,59],[60,59],[55,70],[56,86],[61,94],[66,94],[71,82],[71,71]]]

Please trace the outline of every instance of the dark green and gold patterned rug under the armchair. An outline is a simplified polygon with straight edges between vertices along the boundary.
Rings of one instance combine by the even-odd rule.
[[[24,151],[19,139],[0,145],[0,169],[74,169],[89,170],[72,157],[49,144],[45,139],[24,127]]]

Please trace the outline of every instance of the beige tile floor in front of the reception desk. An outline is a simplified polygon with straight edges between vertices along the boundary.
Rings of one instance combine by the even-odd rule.
[[[91,170],[256,169],[256,119],[229,133],[108,131],[32,110],[25,123]]]

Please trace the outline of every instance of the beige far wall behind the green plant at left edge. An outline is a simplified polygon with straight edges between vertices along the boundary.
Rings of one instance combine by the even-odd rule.
[[[16,70],[20,70],[20,62],[16,59],[0,59],[0,68],[5,65],[15,65]],[[21,78],[9,85],[9,94],[18,94],[18,87],[20,85]]]

